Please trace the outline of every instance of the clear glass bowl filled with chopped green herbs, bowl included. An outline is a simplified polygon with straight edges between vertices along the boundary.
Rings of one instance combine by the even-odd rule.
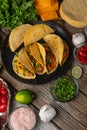
[[[78,83],[71,76],[61,76],[53,80],[50,84],[50,90],[53,98],[60,102],[67,102],[78,94]]]

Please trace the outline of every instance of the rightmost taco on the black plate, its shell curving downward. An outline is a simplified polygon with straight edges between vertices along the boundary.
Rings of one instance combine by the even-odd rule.
[[[52,48],[55,50],[55,53],[58,57],[58,62],[60,65],[62,65],[69,55],[69,47],[66,44],[66,42],[56,34],[48,34],[43,39],[48,45],[51,45]]]

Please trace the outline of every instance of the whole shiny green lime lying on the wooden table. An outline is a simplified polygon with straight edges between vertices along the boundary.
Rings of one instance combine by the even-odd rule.
[[[22,89],[17,92],[15,95],[16,101],[22,104],[29,104],[32,102],[32,100],[35,98],[35,94],[28,90],[28,89]]]

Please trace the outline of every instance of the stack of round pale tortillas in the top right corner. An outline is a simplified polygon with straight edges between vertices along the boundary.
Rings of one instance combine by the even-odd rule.
[[[84,27],[87,25],[87,0],[63,0],[60,15],[70,25]]]

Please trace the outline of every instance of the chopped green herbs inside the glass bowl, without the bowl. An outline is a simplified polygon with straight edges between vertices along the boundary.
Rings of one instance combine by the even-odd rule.
[[[77,92],[77,86],[74,80],[61,77],[57,83],[52,86],[52,94],[61,102],[66,102],[73,99]]]

